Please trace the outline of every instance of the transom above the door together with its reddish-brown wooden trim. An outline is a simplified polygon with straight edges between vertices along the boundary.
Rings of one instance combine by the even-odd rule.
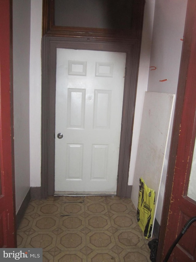
[[[43,35],[135,39],[145,0],[43,0]]]

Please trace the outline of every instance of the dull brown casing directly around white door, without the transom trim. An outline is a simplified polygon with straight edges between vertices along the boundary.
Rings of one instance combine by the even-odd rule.
[[[140,41],[89,41],[89,38],[43,37],[42,45],[42,160],[41,196],[54,195],[55,185],[55,73],[56,48],[126,53],[122,129],[120,138],[117,195],[130,197],[128,186],[130,152],[137,90]]]

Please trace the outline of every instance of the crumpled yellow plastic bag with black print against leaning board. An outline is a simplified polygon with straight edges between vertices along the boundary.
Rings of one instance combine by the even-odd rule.
[[[140,178],[139,182],[137,221],[144,237],[149,238],[153,227],[155,191],[146,186],[143,178]]]

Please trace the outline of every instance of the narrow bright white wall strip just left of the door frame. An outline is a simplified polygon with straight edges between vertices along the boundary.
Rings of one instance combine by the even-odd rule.
[[[41,186],[41,37],[42,1],[31,0],[30,185]]]

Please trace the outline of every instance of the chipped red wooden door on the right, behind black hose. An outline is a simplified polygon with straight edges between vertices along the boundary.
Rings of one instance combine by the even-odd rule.
[[[192,165],[195,136],[196,136],[196,3],[188,1],[187,17],[185,28],[185,46],[182,55],[188,50],[188,65],[181,74],[185,74],[186,84],[183,100],[182,112],[179,130],[179,139],[175,160],[174,177],[171,190],[171,202],[167,220],[164,246],[159,244],[158,256],[160,252],[165,256],[173,241],[181,232],[185,223],[193,216],[196,216],[196,201],[187,196],[190,170]],[[191,23],[190,23],[191,21]],[[190,42],[189,42],[190,41]],[[190,50],[190,53],[189,53]],[[181,66],[184,66],[184,60],[181,60]],[[180,76],[181,77],[181,76]],[[181,78],[179,78],[181,79]],[[179,82],[179,86],[182,85]],[[176,103],[179,104],[178,95]],[[178,115],[175,116],[178,121]],[[175,139],[173,135],[173,139]],[[171,174],[169,174],[171,175]],[[195,174],[194,174],[195,175]],[[163,210],[164,216],[164,210]],[[195,222],[183,235],[176,245],[168,261],[195,261],[196,260],[196,224]],[[160,236],[160,238],[162,235]],[[162,240],[161,240],[162,241]],[[160,249],[162,249],[160,251]],[[162,256],[162,258],[164,257]],[[162,261],[162,260],[161,260]]]

